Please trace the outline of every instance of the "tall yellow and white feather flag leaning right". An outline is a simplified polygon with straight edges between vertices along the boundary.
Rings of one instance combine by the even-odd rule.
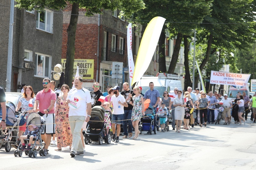
[[[155,17],[148,23],[141,39],[131,85],[140,80],[150,65],[165,20],[162,17]]]

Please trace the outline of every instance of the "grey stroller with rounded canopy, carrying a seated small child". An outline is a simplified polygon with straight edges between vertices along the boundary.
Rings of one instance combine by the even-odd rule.
[[[47,117],[47,115],[46,115]],[[45,126],[45,121],[44,118],[41,117],[38,113],[32,112],[28,115],[27,117],[27,129],[24,133],[24,135],[28,134],[28,126],[30,124],[33,124],[35,126],[37,126],[37,130],[35,130],[37,132],[37,137],[33,139],[34,144],[31,144],[30,150],[25,150],[25,154],[28,155],[29,157],[37,157],[37,150],[35,149],[35,147],[39,146],[41,148],[43,148],[43,144],[42,144],[42,138],[41,138],[41,133],[44,129]],[[25,142],[29,142],[29,139],[25,139]],[[36,142],[39,141],[39,144],[37,144]],[[19,155],[19,157],[22,156],[22,150],[20,149],[20,147],[22,146],[22,143],[20,142],[18,145],[17,150],[14,151],[14,156]],[[40,149],[39,150],[39,155],[40,156],[46,156],[47,155],[47,150],[46,149]]]

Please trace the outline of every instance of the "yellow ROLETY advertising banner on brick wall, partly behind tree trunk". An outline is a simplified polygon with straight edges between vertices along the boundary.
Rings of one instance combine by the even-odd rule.
[[[65,72],[66,59],[61,59],[62,71]],[[75,59],[73,79],[75,78],[77,66],[79,67],[79,76],[83,79],[93,79],[94,60],[93,59]]]

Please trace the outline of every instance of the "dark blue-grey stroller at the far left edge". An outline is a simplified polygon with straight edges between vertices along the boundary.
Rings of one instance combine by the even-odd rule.
[[[26,122],[26,113],[20,115],[15,114],[15,105],[12,102],[6,102],[6,129],[0,130],[0,149],[4,145],[5,151],[10,152],[11,146],[17,149],[18,147],[18,132],[19,126]],[[2,118],[2,108],[0,111]],[[2,120],[2,119],[1,119]],[[8,127],[9,126],[9,127]]]

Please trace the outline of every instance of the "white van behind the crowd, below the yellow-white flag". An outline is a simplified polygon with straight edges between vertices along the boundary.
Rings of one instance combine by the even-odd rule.
[[[160,98],[164,91],[172,91],[175,87],[182,91],[180,76],[174,74],[157,73],[156,77],[143,76],[136,86],[142,87],[142,93],[145,94],[146,90],[150,89],[149,83],[154,83],[154,88],[159,91]]]

